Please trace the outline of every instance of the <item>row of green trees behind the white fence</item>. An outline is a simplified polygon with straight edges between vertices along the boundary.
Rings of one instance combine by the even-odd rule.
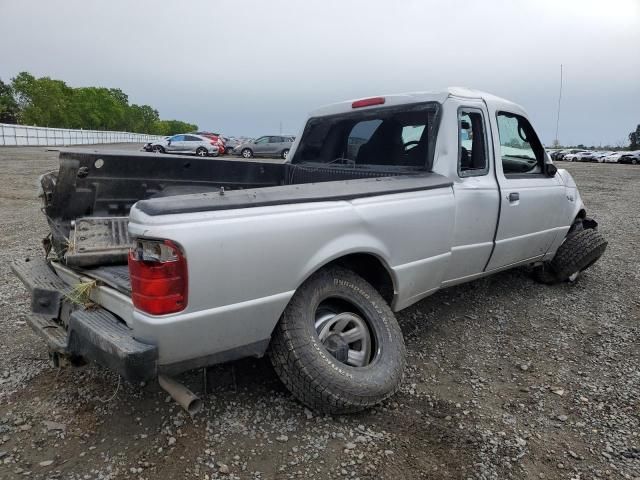
[[[0,79],[0,123],[152,135],[198,129],[180,120],[161,120],[158,110],[149,105],[130,104],[119,88],[75,88],[28,72],[19,73],[10,83]]]

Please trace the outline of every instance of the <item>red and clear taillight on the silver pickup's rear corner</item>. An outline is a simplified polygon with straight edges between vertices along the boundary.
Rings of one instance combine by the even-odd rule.
[[[187,262],[170,240],[137,240],[129,252],[133,305],[151,315],[187,306]]]

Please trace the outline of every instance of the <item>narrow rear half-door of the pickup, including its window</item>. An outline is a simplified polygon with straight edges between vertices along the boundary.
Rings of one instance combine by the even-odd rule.
[[[493,155],[487,127],[486,110],[481,104],[458,108],[457,170],[450,174],[454,179],[456,227],[444,285],[482,274],[493,250],[500,198],[490,168]]]

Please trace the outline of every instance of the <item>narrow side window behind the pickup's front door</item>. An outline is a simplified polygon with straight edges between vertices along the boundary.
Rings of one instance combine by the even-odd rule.
[[[458,175],[473,177],[489,172],[487,137],[480,110],[458,112]]]

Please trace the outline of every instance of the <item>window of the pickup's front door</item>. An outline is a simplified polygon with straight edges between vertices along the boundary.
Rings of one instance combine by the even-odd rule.
[[[544,147],[529,121],[509,112],[498,112],[497,120],[505,176],[541,174]]]

